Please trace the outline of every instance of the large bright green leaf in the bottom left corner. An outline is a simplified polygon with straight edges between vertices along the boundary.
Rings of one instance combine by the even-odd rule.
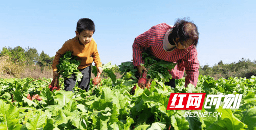
[[[15,106],[0,99],[0,129],[20,129],[22,125],[18,123],[18,116],[19,111]]]

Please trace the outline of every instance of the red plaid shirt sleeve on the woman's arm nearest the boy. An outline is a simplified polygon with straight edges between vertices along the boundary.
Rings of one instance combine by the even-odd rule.
[[[147,37],[150,34],[150,30],[144,32],[135,38],[133,43],[133,64],[134,66],[139,66],[141,63],[144,64],[142,60],[142,51],[148,47]]]

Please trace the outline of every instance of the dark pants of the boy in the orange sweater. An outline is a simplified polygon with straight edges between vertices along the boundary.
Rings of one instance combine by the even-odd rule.
[[[79,71],[82,73],[82,79],[80,82],[78,82],[78,87],[81,88],[82,90],[89,91],[90,88],[90,79],[91,79],[91,72],[92,72],[92,67],[88,66],[84,69],[79,69]],[[76,77],[74,74],[72,74],[72,77],[69,79],[66,79],[64,81],[65,85],[65,90],[66,91],[73,91],[73,88],[76,85]]]

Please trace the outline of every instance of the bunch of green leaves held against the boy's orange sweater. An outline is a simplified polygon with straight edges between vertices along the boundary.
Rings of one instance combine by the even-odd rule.
[[[72,74],[75,74],[76,81],[80,82],[83,75],[77,68],[81,61],[76,60],[76,58],[76,56],[72,55],[71,51],[67,51],[66,54],[59,59],[57,71],[64,79],[70,78]]]

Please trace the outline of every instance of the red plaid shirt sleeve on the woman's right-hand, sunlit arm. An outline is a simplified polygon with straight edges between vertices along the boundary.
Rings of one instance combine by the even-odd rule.
[[[197,49],[193,47],[183,59],[184,59],[185,71],[187,74],[185,77],[185,86],[187,86],[190,83],[196,87],[198,82],[199,67],[200,67],[200,64],[197,58]]]

